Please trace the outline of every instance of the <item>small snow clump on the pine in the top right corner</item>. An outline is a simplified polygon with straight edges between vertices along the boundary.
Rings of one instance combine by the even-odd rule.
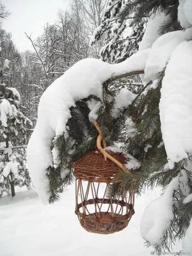
[[[191,0],[189,0],[189,1],[191,2]],[[191,26],[191,24],[188,22],[185,12],[188,13],[188,17],[191,16],[190,8],[189,8],[189,10],[187,10],[187,8],[190,7],[191,3],[186,4],[185,11],[184,11],[185,2],[186,2],[186,0],[179,0],[178,20],[179,20],[180,26],[182,26],[182,28],[189,28]]]

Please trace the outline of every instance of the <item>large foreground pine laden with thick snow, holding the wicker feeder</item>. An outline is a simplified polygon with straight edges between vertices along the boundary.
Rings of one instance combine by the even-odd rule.
[[[148,205],[141,220],[141,236],[159,253],[164,248],[170,250],[169,244],[182,237],[184,250],[191,250],[191,1],[176,2],[109,1],[109,8],[93,34],[92,43],[101,35],[106,36],[109,29],[113,38],[104,38],[108,44],[102,48],[102,54],[111,54],[107,56],[108,61],[120,60],[119,51],[115,51],[113,46],[118,45],[118,40],[124,40],[122,31],[128,24],[125,19],[116,24],[121,10],[123,18],[134,15],[129,19],[137,26],[149,19],[139,51],[136,54],[131,51],[131,57],[115,65],[93,59],[79,61],[52,83],[40,100],[38,120],[28,145],[29,171],[42,202],[46,204],[52,193],[49,180],[51,168],[57,168],[66,153],[61,155],[52,147],[60,136],[63,136],[63,141],[70,137],[69,123],[74,118],[72,109],[76,111],[77,102],[86,100],[84,108],[90,111],[88,120],[93,122],[107,112],[104,105],[106,99],[103,98],[106,81],[136,70],[138,74],[144,73],[145,90],[140,90],[138,95],[126,89],[120,90],[115,95],[114,109],[109,109],[108,114],[114,120],[118,119],[130,106],[129,115],[124,120],[127,132],[123,142],[127,152],[132,154],[130,159],[133,157],[127,168],[140,168],[140,172],[132,174],[136,191],[141,193],[145,186],[154,187],[156,184],[166,187],[163,195]],[[117,16],[112,17],[115,12]],[[88,98],[91,95],[97,99]],[[77,114],[81,112],[78,111]],[[78,129],[74,127],[74,132]],[[111,134],[116,138],[113,129],[106,134],[109,138]],[[84,137],[87,135],[88,131],[83,134]],[[87,137],[86,142],[92,141],[91,136]],[[70,153],[78,147],[79,152],[84,152],[84,141],[78,145],[72,138],[68,142]],[[60,173],[63,179],[70,172],[68,159],[65,161],[65,168]],[[124,180],[127,188],[129,180],[130,177]]]

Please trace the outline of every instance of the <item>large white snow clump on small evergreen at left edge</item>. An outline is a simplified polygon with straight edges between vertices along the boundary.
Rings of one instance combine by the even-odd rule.
[[[6,99],[1,100],[0,103],[0,121],[4,127],[7,127],[7,119],[13,115],[12,106]]]

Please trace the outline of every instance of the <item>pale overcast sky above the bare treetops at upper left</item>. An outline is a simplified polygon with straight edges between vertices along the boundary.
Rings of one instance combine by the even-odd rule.
[[[3,28],[12,33],[13,42],[19,51],[32,49],[24,31],[35,39],[42,33],[46,22],[54,22],[58,10],[65,10],[68,0],[1,0],[11,12],[3,21]]]

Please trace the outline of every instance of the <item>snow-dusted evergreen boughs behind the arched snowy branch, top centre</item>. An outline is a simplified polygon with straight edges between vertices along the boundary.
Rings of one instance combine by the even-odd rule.
[[[102,23],[93,33],[91,44],[100,42],[100,40],[104,44],[100,49],[100,56],[103,61],[119,63],[138,51],[146,19],[143,17],[140,22],[135,24],[130,13],[122,17],[127,4],[127,1],[109,1]]]

